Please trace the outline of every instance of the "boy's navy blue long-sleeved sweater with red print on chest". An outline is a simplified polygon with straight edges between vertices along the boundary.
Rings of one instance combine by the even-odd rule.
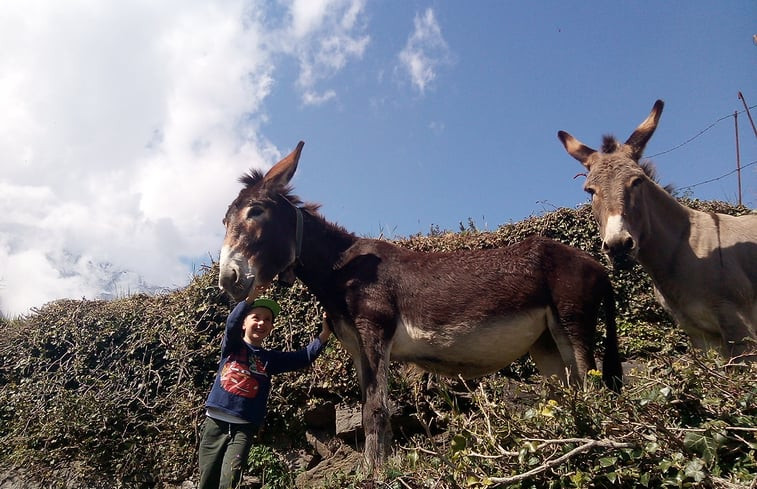
[[[226,320],[221,362],[205,406],[262,426],[271,376],[307,367],[321,354],[325,344],[316,337],[302,350],[289,352],[249,345],[242,339],[247,311],[248,304],[242,301]]]

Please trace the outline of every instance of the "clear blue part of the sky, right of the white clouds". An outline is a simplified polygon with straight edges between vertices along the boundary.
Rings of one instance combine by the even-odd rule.
[[[594,146],[607,132],[625,139],[662,98],[651,155],[743,111],[739,90],[748,102],[754,93],[757,103],[754,3],[537,5],[369,7],[369,22],[382,35],[333,80],[334,103],[292,113],[296,95],[286,86],[268,101],[272,117],[291,116],[271,124],[275,144],[283,150],[298,138],[306,142],[295,180],[300,195],[323,203],[328,218],[373,236],[425,233],[431,225],[456,230],[468,218],[494,229],[586,201],[573,179],[581,167],[557,140],[560,129]],[[420,91],[395,65],[403,32],[428,9],[446,50]],[[755,138],[745,114],[739,123],[748,163],[757,158]],[[661,179],[679,187],[735,169],[732,118],[655,161]],[[754,206],[755,169],[744,173],[743,199]],[[735,201],[736,189],[733,175],[693,193]]]

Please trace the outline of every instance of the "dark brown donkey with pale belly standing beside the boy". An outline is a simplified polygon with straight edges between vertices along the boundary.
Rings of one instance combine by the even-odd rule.
[[[242,300],[277,274],[296,276],[316,296],[355,363],[369,471],[383,464],[388,448],[390,360],[476,377],[530,353],[542,374],[580,382],[595,368],[604,302],[603,377],[620,389],[613,289],[589,255],[541,237],[450,253],[358,238],[291,194],[302,146],[265,175],[240,179],[244,188],[223,221],[219,285]]]

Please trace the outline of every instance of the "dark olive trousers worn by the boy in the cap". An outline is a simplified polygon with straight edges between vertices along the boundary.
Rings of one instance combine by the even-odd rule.
[[[257,431],[254,424],[227,423],[206,417],[200,438],[198,489],[239,487]]]

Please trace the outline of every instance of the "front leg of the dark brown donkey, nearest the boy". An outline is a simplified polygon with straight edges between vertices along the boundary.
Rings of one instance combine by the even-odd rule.
[[[386,443],[389,430],[389,345],[378,331],[374,331],[374,335],[363,335],[361,355],[364,456],[368,474],[381,468],[389,448]]]

